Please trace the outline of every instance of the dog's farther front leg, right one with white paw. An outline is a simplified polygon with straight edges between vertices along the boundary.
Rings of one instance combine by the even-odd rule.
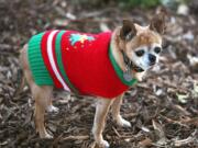
[[[122,104],[122,98],[123,98],[123,94],[118,96],[113,103],[112,103],[112,117],[113,119],[117,122],[117,124],[119,126],[122,126],[122,127],[131,127],[131,123],[128,122],[127,119],[124,119],[121,115],[120,115],[120,106]]]

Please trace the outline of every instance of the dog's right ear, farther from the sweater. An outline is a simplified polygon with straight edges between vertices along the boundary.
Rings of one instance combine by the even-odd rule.
[[[156,14],[151,21],[150,30],[163,34],[165,31],[165,18],[166,14],[164,12]]]

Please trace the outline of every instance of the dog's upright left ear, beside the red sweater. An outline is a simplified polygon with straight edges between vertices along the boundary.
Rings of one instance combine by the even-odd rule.
[[[134,23],[130,20],[123,20],[123,24],[120,31],[120,37],[123,41],[130,41],[136,35]]]

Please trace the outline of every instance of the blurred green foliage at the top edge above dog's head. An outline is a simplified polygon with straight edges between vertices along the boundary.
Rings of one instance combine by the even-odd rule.
[[[122,7],[153,8],[161,4],[160,0],[118,0]]]

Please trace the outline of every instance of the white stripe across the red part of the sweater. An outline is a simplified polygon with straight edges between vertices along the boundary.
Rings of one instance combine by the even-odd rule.
[[[54,71],[57,80],[61,82],[61,84],[63,86],[63,88],[66,91],[70,91],[70,89],[67,87],[67,84],[63,80],[61,73],[58,72],[55,60],[54,60],[54,57],[53,57],[53,38],[54,38],[54,35],[56,33],[57,33],[57,31],[53,31],[53,32],[51,32],[51,34],[47,37],[47,56],[48,56],[48,59],[50,59],[51,67],[52,67],[53,71]]]

